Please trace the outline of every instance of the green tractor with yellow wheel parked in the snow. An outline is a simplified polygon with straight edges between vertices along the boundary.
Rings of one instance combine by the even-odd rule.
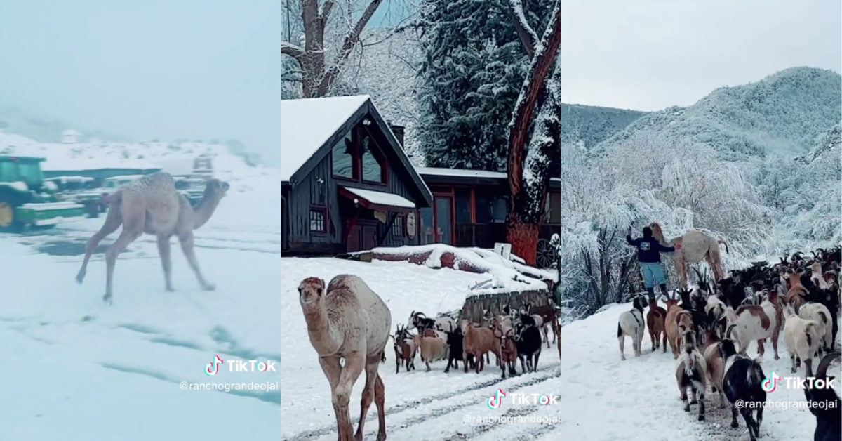
[[[47,229],[85,218],[85,208],[59,202],[56,185],[45,182],[43,158],[0,155],[0,233],[18,233],[29,225]]]

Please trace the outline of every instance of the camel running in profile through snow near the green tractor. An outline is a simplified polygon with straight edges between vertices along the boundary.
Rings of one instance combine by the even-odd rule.
[[[208,180],[201,201],[196,207],[190,207],[187,197],[175,190],[173,176],[165,172],[146,175],[117,187],[110,195],[103,196],[103,202],[109,204],[108,215],[102,228],[88,239],[82,268],[79,269],[76,281],[80,285],[84,281],[88,272],[88,260],[99,242],[122,225],[120,237],[105,251],[106,281],[103,301],[106,304],[112,302],[117,255],[144,233],[157,236],[158,254],[161,255],[164,282],[168,292],[174,291],[169,247],[169,239],[173,235],[179,238],[181,250],[199,279],[201,288],[213,291],[216,287],[202,276],[199,261],[196,260],[193,230],[207,223],[228,188],[226,182]]]

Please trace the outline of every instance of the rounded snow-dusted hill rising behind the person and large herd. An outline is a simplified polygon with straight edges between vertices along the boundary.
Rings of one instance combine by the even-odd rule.
[[[716,89],[689,107],[643,116],[594,153],[644,138],[704,143],[727,160],[806,153],[820,133],[842,120],[839,89],[839,73],[792,67],[757,83]]]

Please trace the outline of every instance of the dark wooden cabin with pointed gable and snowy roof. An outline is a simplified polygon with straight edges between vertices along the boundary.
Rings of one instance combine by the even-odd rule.
[[[418,245],[433,196],[368,96],[281,100],[281,248]]]

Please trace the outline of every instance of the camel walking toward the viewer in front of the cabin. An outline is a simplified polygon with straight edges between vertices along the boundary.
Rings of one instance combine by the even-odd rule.
[[[392,312],[360,277],[340,274],[325,291],[324,281],[309,277],[298,286],[299,302],[307,322],[310,344],[333,395],[333,413],[339,441],[361,441],[365,414],[371,401],[377,405],[377,441],[386,439],[385,387],[377,368],[389,342]],[[345,360],[344,366],[340,360]],[[365,369],[365,389],[360,404],[360,426],[352,437],[348,403],[351,389]]]

